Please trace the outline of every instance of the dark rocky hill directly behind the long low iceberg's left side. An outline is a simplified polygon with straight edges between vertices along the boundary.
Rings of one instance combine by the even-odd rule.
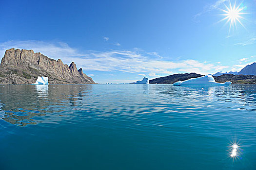
[[[149,81],[149,84],[174,84],[178,81],[184,81],[191,78],[201,77],[203,75],[196,73],[185,73],[185,74],[173,74],[166,77],[159,77]]]

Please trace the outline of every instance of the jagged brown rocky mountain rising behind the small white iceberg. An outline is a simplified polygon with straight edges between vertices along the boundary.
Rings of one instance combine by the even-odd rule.
[[[95,84],[74,62],[68,66],[60,59],[56,61],[33,50],[5,51],[0,64],[0,84],[32,84],[38,76],[49,77],[49,84]]]

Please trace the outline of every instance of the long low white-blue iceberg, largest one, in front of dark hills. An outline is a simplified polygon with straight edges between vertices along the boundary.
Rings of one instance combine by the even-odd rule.
[[[225,83],[217,83],[213,76],[207,75],[197,78],[192,78],[185,81],[178,81],[174,83],[173,85],[179,85],[179,86],[228,86],[231,85],[232,82],[225,82]]]

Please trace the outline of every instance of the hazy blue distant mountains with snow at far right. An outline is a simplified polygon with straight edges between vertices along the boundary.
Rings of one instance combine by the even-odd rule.
[[[247,65],[245,68],[242,68],[241,71],[237,72],[233,72],[233,71],[230,71],[230,72],[222,72],[222,71],[219,71],[217,73],[215,73],[213,76],[221,76],[223,74],[242,74],[242,75],[256,75],[256,63],[253,63],[251,65]]]

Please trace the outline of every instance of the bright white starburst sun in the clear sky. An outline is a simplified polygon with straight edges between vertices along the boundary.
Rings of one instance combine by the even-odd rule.
[[[236,1],[235,1],[235,3],[232,5],[231,1],[229,0],[229,6],[227,6],[226,4],[224,5],[226,9],[220,9],[222,12],[224,12],[224,14],[221,14],[221,16],[224,16],[224,18],[221,19],[220,21],[227,20],[226,23],[228,22],[230,23],[229,32],[231,28],[234,29],[234,26],[236,27],[237,22],[245,28],[245,26],[241,22],[241,20],[245,18],[242,17],[241,15],[244,15],[247,13],[242,12],[242,10],[245,8],[241,6],[242,2],[239,5],[236,5]]]

